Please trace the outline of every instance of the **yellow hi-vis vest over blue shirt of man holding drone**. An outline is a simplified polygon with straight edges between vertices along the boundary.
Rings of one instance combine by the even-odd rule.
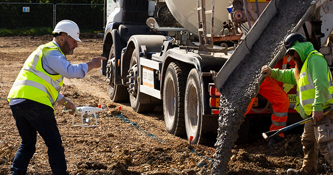
[[[42,65],[42,57],[52,50],[59,50],[53,42],[39,46],[24,62],[9,94],[7,101],[12,98],[24,98],[37,101],[53,108],[60,87],[64,84],[61,75],[48,74]],[[65,56],[65,54],[64,54]]]

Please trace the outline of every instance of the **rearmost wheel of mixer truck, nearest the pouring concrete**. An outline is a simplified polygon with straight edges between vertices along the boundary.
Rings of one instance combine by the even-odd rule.
[[[202,90],[198,72],[193,68],[188,76],[185,90],[185,128],[192,144],[214,145],[216,143],[218,116],[202,116]]]

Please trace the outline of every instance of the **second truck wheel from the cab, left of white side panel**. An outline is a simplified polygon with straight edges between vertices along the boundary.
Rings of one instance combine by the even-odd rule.
[[[136,49],[133,50],[130,70],[129,70],[129,96],[131,107],[136,113],[149,113],[155,110],[155,104],[153,103],[140,103],[140,99],[143,101],[149,101],[150,96],[144,93],[140,93],[140,86],[138,85],[138,60],[139,57],[136,53]]]

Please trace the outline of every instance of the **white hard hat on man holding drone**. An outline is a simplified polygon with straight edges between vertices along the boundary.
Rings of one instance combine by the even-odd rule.
[[[58,22],[55,25],[55,28],[52,31],[52,33],[59,33],[59,32],[65,32],[69,36],[71,36],[74,40],[76,40],[78,42],[82,42],[79,39],[79,36],[80,36],[79,26],[77,26],[77,24],[71,20],[62,20],[62,21]]]

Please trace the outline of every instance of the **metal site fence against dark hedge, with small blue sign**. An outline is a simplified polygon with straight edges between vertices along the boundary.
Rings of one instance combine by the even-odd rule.
[[[0,28],[55,27],[69,19],[80,30],[103,30],[103,4],[0,3]]]

